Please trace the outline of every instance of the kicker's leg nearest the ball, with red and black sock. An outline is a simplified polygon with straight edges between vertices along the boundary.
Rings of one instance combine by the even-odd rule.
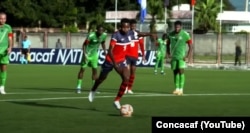
[[[121,72],[118,73],[118,74],[122,78],[122,83],[120,85],[119,91],[118,91],[118,93],[117,93],[117,95],[115,97],[115,100],[114,100],[114,105],[115,105],[115,107],[117,109],[121,108],[120,100],[121,100],[122,96],[124,95],[124,93],[126,91],[126,87],[128,86],[129,75],[130,75],[129,69],[126,66],[126,64],[120,63],[119,66],[120,66]]]

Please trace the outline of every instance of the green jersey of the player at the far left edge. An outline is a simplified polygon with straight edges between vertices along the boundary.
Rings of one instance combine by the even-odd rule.
[[[9,34],[12,33],[12,28],[8,24],[4,24],[0,27],[0,54],[6,52],[9,46]]]

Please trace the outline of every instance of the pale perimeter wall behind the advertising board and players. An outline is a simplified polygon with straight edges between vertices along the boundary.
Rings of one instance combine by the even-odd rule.
[[[32,48],[55,48],[57,39],[60,39],[63,48],[77,49],[82,47],[86,39],[86,33],[26,33],[32,42]],[[161,36],[161,34],[159,34]],[[22,34],[16,34],[14,47],[20,47]],[[108,35],[106,47],[108,48]],[[155,45],[150,38],[145,38],[145,49],[155,50]],[[193,36],[193,54],[191,62],[205,64],[233,64],[235,44],[239,43],[242,48],[242,64],[250,62],[250,34],[218,33],[195,34]]]

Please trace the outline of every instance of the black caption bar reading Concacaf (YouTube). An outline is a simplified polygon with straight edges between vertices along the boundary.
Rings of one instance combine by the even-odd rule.
[[[152,117],[152,133],[250,133],[250,117]]]

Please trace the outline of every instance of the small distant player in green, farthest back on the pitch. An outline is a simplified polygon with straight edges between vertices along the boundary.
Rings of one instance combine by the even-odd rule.
[[[156,51],[156,63],[154,67],[154,72],[155,74],[157,74],[159,63],[161,63],[161,74],[165,75],[164,59],[166,57],[167,34],[163,34],[162,38],[157,39],[156,46],[157,46],[157,51]]]

